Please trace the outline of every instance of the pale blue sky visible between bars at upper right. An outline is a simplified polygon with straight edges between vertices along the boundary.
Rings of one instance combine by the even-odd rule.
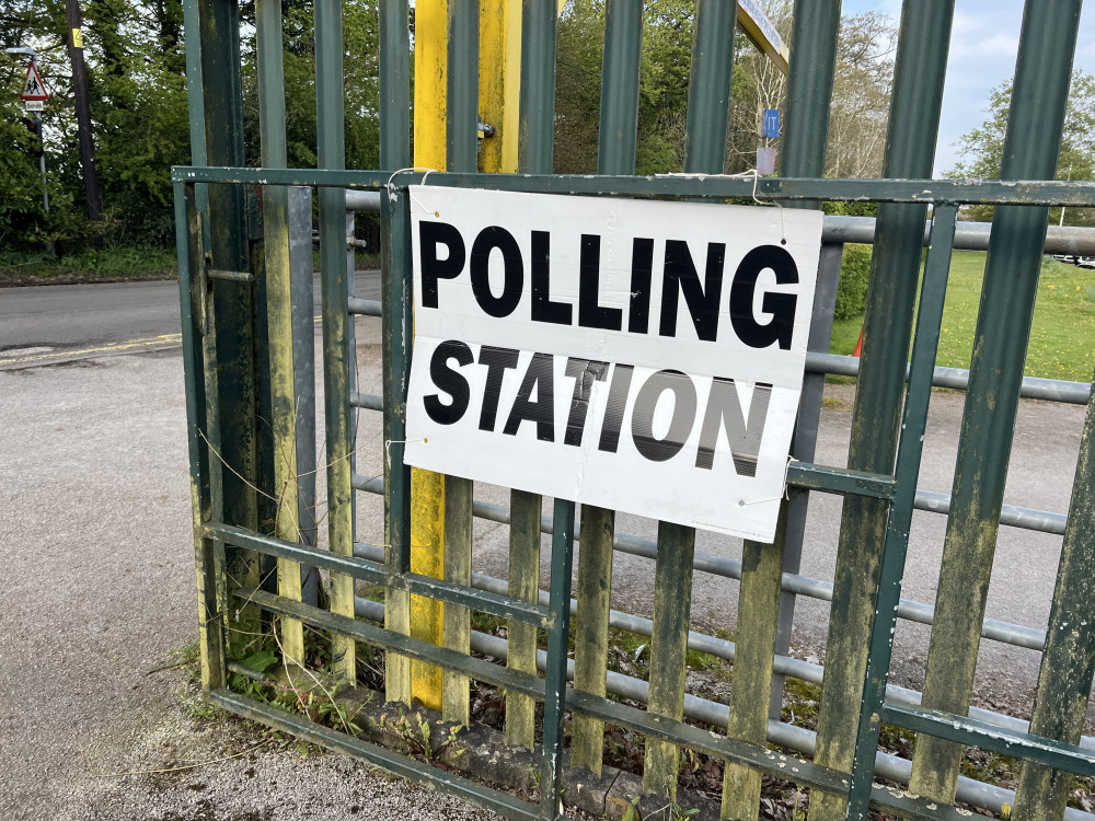
[[[844,14],[881,11],[892,18],[895,25],[901,18],[899,0],[844,0],[841,10]],[[955,3],[943,118],[935,152],[936,176],[955,164],[954,143],[984,120],[989,91],[1015,73],[1022,22],[1022,0],[957,0]],[[1085,3],[1080,15],[1075,66],[1095,73],[1095,2]]]

